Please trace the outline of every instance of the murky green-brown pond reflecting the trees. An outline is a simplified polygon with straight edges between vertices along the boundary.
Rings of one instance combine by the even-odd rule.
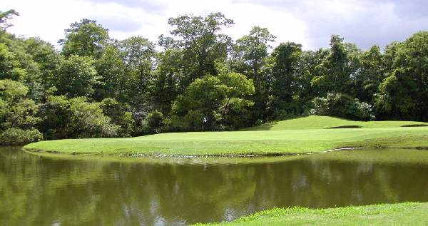
[[[404,201],[428,201],[427,150],[125,158],[0,148],[0,225],[188,225]]]

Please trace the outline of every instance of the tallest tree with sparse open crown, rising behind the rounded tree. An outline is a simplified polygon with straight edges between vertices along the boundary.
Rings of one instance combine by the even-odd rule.
[[[208,16],[184,15],[170,18],[168,24],[174,29],[170,34],[175,39],[165,39],[161,36],[163,43],[168,46],[183,48],[183,61],[186,64],[186,80],[183,86],[188,86],[195,78],[205,74],[216,74],[215,60],[226,58],[228,48],[231,46],[231,38],[219,31],[234,24],[233,20],[227,19],[221,13],[212,13]],[[170,45],[175,41],[175,45]]]

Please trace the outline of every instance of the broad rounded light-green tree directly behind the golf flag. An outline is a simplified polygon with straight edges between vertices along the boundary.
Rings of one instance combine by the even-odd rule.
[[[197,78],[178,96],[172,108],[172,125],[178,130],[200,130],[203,118],[207,118],[206,129],[225,128],[225,122],[233,120],[233,114],[253,106],[248,96],[254,93],[253,81],[240,73],[225,72],[219,76]],[[236,116],[235,115],[235,116]],[[248,124],[229,124],[239,128]]]

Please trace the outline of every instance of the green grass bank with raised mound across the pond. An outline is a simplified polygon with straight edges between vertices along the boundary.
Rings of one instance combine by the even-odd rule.
[[[366,128],[323,129],[343,125],[340,121],[342,120],[337,118],[310,116],[282,121],[276,124],[280,124],[281,127],[278,125],[272,130],[163,133],[137,138],[49,140],[31,143],[24,148],[63,153],[100,153],[102,151],[103,153],[148,155],[226,155],[316,153],[342,147],[428,147],[428,127],[399,127],[412,122],[368,122]],[[347,123],[345,125],[362,123],[347,120],[345,122]]]

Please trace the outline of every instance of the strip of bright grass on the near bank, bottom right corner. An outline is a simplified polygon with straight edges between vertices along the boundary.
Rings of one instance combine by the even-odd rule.
[[[428,225],[428,203],[406,202],[328,209],[275,208],[233,222],[207,225]]]

